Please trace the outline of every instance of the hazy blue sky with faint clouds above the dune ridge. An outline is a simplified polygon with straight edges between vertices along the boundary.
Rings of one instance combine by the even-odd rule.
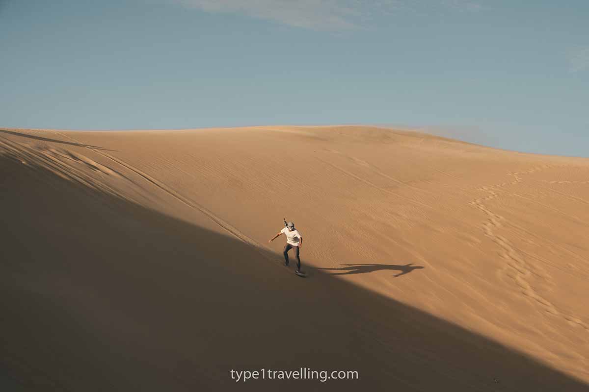
[[[586,0],[0,0],[0,126],[363,123],[589,156]]]

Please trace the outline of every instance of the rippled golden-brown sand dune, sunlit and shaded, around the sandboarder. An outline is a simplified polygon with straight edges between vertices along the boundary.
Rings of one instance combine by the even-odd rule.
[[[2,390],[589,390],[589,159],[353,126],[3,129],[0,200]],[[267,242],[283,217],[306,279]],[[300,367],[359,380],[230,375]]]

